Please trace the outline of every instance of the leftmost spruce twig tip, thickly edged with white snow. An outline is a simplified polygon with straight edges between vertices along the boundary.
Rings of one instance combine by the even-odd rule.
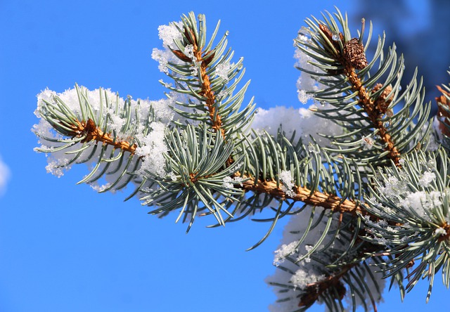
[[[148,157],[148,152],[164,150],[165,127],[160,121],[167,119],[158,117],[162,112],[155,113],[149,102],[123,100],[108,90],[79,86],[59,94],[46,90],[38,98],[36,113],[41,122],[33,131],[42,145],[35,150],[51,154],[49,172],[62,176],[63,169],[74,163],[93,163],[79,183],[105,178],[108,183],[94,186],[99,192],[118,190],[130,182],[149,187],[149,181],[143,183],[136,175],[142,168],[165,176],[162,154],[158,159],[158,153]],[[149,141],[147,134],[154,138]]]

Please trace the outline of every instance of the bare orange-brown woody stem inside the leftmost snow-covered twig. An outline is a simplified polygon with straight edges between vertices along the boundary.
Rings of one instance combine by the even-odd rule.
[[[121,150],[130,152],[134,154],[134,151],[137,148],[136,144],[130,144],[127,141],[115,141],[114,137],[111,134],[105,133],[101,131],[101,129],[96,126],[94,120],[91,118],[87,119],[86,122],[79,122],[77,120],[77,124],[72,125],[74,137],[82,137],[86,136],[81,142],[89,142],[89,141],[97,141],[102,142],[103,144],[112,145],[114,148],[120,148]]]

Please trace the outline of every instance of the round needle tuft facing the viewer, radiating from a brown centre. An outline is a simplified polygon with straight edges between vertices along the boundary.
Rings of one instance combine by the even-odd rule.
[[[230,178],[242,166],[242,157],[226,166],[233,143],[225,142],[220,134],[210,132],[210,128],[202,124],[186,126],[181,133],[174,129],[167,135],[167,144],[169,152],[165,157],[169,176],[143,173],[158,186],[141,190],[145,194],[141,198],[143,204],[157,207],[149,213],[165,216],[181,209],[176,221],[184,215],[184,221],[189,221],[187,230],[198,214],[213,214],[223,225],[221,212],[232,217],[227,210],[229,202],[242,194],[242,190],[234,186],[245,183],[244,178]]]

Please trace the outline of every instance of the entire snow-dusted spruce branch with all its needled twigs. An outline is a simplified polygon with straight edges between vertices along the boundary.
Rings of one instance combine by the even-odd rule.
[[[271,226],[252,248],[291,216],[269,283],[292,311],[314,302],[344,311],[346,297],[353,309],[368,310],[370,299],[376,311],[383,278],[397,282],[402,296],[429,278],[428,300],[439,270],[450,284],[450,186],[446,152],[425,151],[432,123],[421,80],[414,74],[401,90],[403,57],[395,46],[385,52],[384,36],[367,58],[372,27],[364,43],[364,20],[359,37],[338,10],[306,22],[295,40],[301,83],[309,84],[299,98],[321,105],[311,128],[321,118],[335,126],[328,134],[308,126],[297,137],[283,125],[275,135],[250,130],[256,112],[253,99],[241,107],[249,84],[239,85],[243,58],[233,63],[228,32],[214,43],[219,23],[208,41],[205,15],[189,13],[160,29],[165,50],[153,51],[172,79],[162,82],[166,99],[79,86],[43,91],[37,151],[50,155],[48,170],[58,176],[72,164],[92,164],[80,183],[105,180],[101,192],[134,184],[128,198],[138,195],[150,214],[176,212],[187,230],[199,216],[224,225],[271,209],[271,218],[259,219]],[[448,148],[450,89],[440,90],[437,129]]]

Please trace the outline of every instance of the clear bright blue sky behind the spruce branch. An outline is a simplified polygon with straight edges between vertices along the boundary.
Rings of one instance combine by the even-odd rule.
[[[76,186],[86,168],[62,178],[46,174],[37,139],[36,95],[77,82],[121,96],[157,100],[164,76],[150,58],[158,26],[189,11],[221,19],[236,60],[244,56],[248,99],[259,107],[300,107],[293,38],[309,15],[352,13],[354,1],[0,1],[0,155],[11,170],[0,197],[0,311],[267,311],[275,295],[264,283],[285,221],[263,245],[269,224],[250,220],[188,235],[174,216],[146,214],[128,194],[97,194]],[[381,9],[381,8],[380,8]],[[401,18],[401,17],[399,17]],[[383,26],[380,26],[383,27]],[[359,25],[354,25],[354,30]],[[389,36],[389,34],[387,34]],[[407,56],[406,56],[407,57]],[[423,311],[448,304],[437,276],[399,305],[394,290],[380,311]],[[322,311],[319,306],[316,310]]]

